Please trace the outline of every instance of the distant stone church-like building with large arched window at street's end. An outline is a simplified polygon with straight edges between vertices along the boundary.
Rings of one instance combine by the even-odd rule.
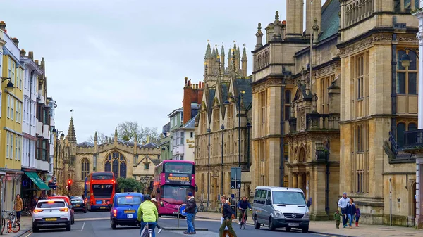
[[[64,136],[64,135],[63,135]],[[111,171],[115,178],[133,178],[143,184],[143,193],[149,193],[149,186],[154,177],[154,167],[160,163],[160,149],[155,143],[138,144],[135,138],[134,142],[121,141],[115,130],[114,139],[97,144],[97,132],[94,135],[94,144],[90,142],[76,142],[75,128],[73,119],[69,126],[68,136],[64,141],[64,151],[70,153],[68,159],[61,159],[59,155],[59,174],[63,172],[65,183],[68,179],[73,180],[71,190],[72,195],[82,195],[85,177],[90,172]],[[63,160],[63,161],[61,161]],[[82,191],[82,192],[81,192]]]

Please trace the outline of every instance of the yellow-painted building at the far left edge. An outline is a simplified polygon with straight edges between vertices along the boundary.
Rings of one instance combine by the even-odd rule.
[[[4,24],[4,23],[3,23]],[[20,64],[18,40],[11,39],[0,30],[3,40],[3,64],[1,68],[1,120],[0,120],[0,169],[3,176],[3,209],[11,210],[14,196],[20,193],[22,159],[22,109],[23,109],[23,65]],[[2,44],[3,44],[2,43]],[[13,89],[6,89],[9,82]],[[10,84],[9,84],[10,85]]]

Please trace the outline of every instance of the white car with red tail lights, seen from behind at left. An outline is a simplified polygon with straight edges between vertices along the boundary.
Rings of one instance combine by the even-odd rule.
[[[64,199],[39,200],[32,212],[32,231],[66,228],[71,231],[71,208]]]

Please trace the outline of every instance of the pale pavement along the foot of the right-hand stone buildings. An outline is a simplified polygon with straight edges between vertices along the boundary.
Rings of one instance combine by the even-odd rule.
[[[252,226],[254,222],[252,221],[251,212],[248,213],[247,226]],[[214,219],[220,220],[221,214],[217,212],[198,212],[195,220],[197,219]],[[238,218],[237,218],[238,219]],[[342,225],[342,222],[341,222]],[[326,236],[351,236],[351,237],[364,237],[364,236],[373,236],[373,237],[386,237],[386,236],[423,236],[423,230],[417,230],[413,227],[403,227],[403,226],[384,226],[384,225],[368,225],[368,224],[359,224],[359,227],[353,228],[342,228],[336,229],[335,221],[330,222],[310,222],[309,233],[318,233]],[[234,228],[238,228],[238,224],[233,224]],[[247,228],[245,228],[247,229]],[[267,226],[262,226],[260,229],[268,229]]]

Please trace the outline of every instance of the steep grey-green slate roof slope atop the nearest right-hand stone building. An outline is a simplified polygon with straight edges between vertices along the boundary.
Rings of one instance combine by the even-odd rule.
[[[321,34],[319,41],[338,33],[339,11],[341,11],[338,0],[327,0],[321,9]],[[319,23],[317,23],[319,24]]]

